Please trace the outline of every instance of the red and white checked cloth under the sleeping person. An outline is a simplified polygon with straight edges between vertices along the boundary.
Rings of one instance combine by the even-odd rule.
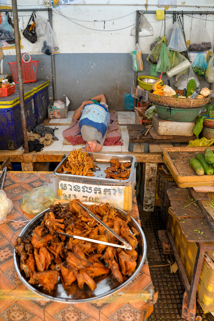
[[[116,120],[116,116],[110,111],[110,126],[108,127],[103,146],[123,145],[123,143],[119,141],[121,134],[117,132],[118,126]],[[77,119],[74,119],[73,124],[62,132],[62,136],[66,137],[67,141],[72,145],[86,144],[86,141],[83,140],[82,135],[80,134],[79,121]]]

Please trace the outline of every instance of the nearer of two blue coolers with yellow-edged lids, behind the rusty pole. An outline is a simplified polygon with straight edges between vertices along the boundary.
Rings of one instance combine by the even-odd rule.
[[[11,88],[8,88],[8,90]],[[36,127],[33,89],[24,89],[27,131]],[[16,150],[23,144],[19,93],[0,100],[0,149]]]

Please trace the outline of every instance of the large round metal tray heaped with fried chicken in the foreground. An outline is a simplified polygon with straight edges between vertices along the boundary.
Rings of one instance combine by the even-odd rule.
[[[122,248],[99,220],[131,250]],[[17,238],[13,258],[17,274],[30,290],[48,299],[78,303],[117,292],[139,273],[145,256],[144,232],[134,218],[108,203],[72,200],[35,216]]]

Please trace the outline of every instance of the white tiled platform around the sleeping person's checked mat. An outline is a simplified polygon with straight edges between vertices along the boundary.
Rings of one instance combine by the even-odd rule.
[[[69,127],[69,125],[64,124],[70,124],[72,117],[73,117],[74,111],[68,112],[68,118],[56,118],[51,119],[49,124],[46,126],[50,126],[51,128],[59,128],[55,131],[55,135],[57,138],[59,138],[58,141],[54,140],[54,143],[50,146],[46,146],[43,151],[70,151],[73,148],[80,148],[82,146],[85,147],[85,145],[63,145],[63,136],[62,132],[66,128]],[[128,124],[135,124],[135,112],[133,111],[117,111],[118,115],[118,121],[119,125],[122,124],[124,126],[120,126],[123,145],[122,146],[103,146],[103,152],[128,152],[128,142],[129,142],[129,136],[128,136],[128,130],[127,125]],[[53,126],[51,124],[56,124],[57,126]],[[186,146],[187,143],[180,144],[180,146]],[[163,147],[173,147],[170,143],[161,143],[161,144],[150,144],[150,152],[162,152]],[[18,151],[24,150],[22,147],[18,149]],[[144,144],[134,144],[134,150],[133,152],[144,152]]]

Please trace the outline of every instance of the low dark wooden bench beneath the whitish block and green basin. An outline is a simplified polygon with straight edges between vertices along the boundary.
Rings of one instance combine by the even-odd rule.
[[[166,138],[163,136],[160,139],[152,138],[152,135],[148,133],[146,136],[141,136],[137,139],[137,135],[140,130],[145,129],[145,125],[128,125],[128,135],[129,135],[129,143],[128,143],[128,151],[133,152],[134,143],[143,143],[144,144],[144,153],[149,153],[149,144],[158,144],[158,143],[172,143],[173,146],[180,146],[180,143],[189,143],[190,140],[196,139],[196,136],[171,136],[172,138]],[[157,135],[158,136],[158,135]]]

